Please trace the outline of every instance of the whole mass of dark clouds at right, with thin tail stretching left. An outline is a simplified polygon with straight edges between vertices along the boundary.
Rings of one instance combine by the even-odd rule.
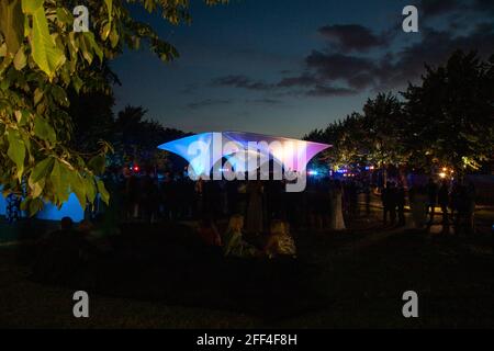
[[[485,11],[494,10],[494,1],[471,0],[460,3],[434,0],[424,11],[430,16],[448,14],[445,16],[446,22],[442,21],[446,26],[434,27],[425,22],[419,36],[415,37],[418,41],[411,42],[390,43],[357,24],[324,26],[318,31],[336,38],[338,45],[310,52],[300,73],[291,71],[290,76],[280,75],[279,80],[273,82],[231,75],[217,78],[213,83],[268,92],[274,97],[343,97],[362,91],[402,89],[408,82],[420,79],[426,64],[442,65],[454,50],[476,50],[484,59],[494,54],[493,20],[492,16],[485,16],[485,12],[479,12],[482,4]],[[463,16],[465,7],[470,12]],[[479,15],[473,15],[473,9]],[[456,22],[457,30],[451,30],[452,22]],[[350,34],[351,31],[353,34]],[[362,36],[361,41],[357,39],[359,35]],[[391,34],[386,36],[391,37]],[[366,53],[372,47],[381,49]]]

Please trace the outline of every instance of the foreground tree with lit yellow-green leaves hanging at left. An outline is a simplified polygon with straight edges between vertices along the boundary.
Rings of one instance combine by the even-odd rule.
[[[162,60],[178,57],[126,3],[161,12],[172,24],[189,22],[188,0],[87,0],[90,32],[76,33],[75,0],[0,1],[0,184],[24,195],[32,214],[49,201],[60,206],[71,192],[82,206],[109,194],[97,177],[111,147],[93,155],[72,148],[68,91],[111,92],[106,61],[144,43]],[[213,4],[223,0],[206,0]]]

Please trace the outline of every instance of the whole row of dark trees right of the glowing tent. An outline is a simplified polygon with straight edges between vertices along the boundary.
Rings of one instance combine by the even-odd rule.
[[[441,166],[464,173],[493,159],[493,92],[494,55],[482,61],[459,50],[444,66],[426,66],[422,83],[402,93],[404,101],[380,93],[362,115],[306,138],[333,144],[325,155],[334,165]]]

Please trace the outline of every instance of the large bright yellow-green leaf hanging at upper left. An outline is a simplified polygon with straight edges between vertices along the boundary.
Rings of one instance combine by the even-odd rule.
[[[48,22],[43,7],[33,13],[33,31],[30,41],[34,61],[49,79],[53,79],[57,68],[64,64],[66,58],[49,35]]]

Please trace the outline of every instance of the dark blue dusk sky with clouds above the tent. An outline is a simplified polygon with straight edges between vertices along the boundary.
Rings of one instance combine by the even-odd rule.
[[[143,105],[186,132],[302,137],[417,81],[425,61],[457,48],[494,54],[493,0],[191,3],[192,24],[180,26],[132,7],[181,57],[164,64],[143,48],[116,59],[115,111]],[[419,10],[419,33],[402,31],[407,4]]]

